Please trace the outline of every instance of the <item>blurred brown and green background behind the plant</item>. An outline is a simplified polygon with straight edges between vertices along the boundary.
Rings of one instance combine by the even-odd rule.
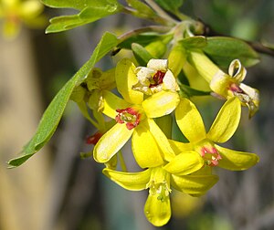
[[[220,34],[274,43],[272,0],[185,0],[182,11]],[[48,18],[65,14],[69,11],[44,11]],[[105,178],[92,158],[80,159],[79,152],[91,151],[85,140],[95,131],[72,102],[42,151],[16,169],[6,164],[30,140],[48,103],[89,59],[103,32],[121,35],[145,24],[119,15],[58,34],[45,35],[47,25],[23,26],[17,37],[0,38],[0,229],[156,229],[142,211],[147,191],[125,191]],[[111,68],[114,62],[106,57],[98,67]],[[259,89],[260,109],[251,120],[244,111],[228,142],[235,150],[258,153],[258,165],[246,172],[218,169],[219,182],[201,198],[173,191],[172,219],[158,229],[274,229],[273,63],[274,57],[261,55],[261,62],[248,68],[246,83]],[[210,124],[220,103],[208,101],[198,103],[198,109]]]

